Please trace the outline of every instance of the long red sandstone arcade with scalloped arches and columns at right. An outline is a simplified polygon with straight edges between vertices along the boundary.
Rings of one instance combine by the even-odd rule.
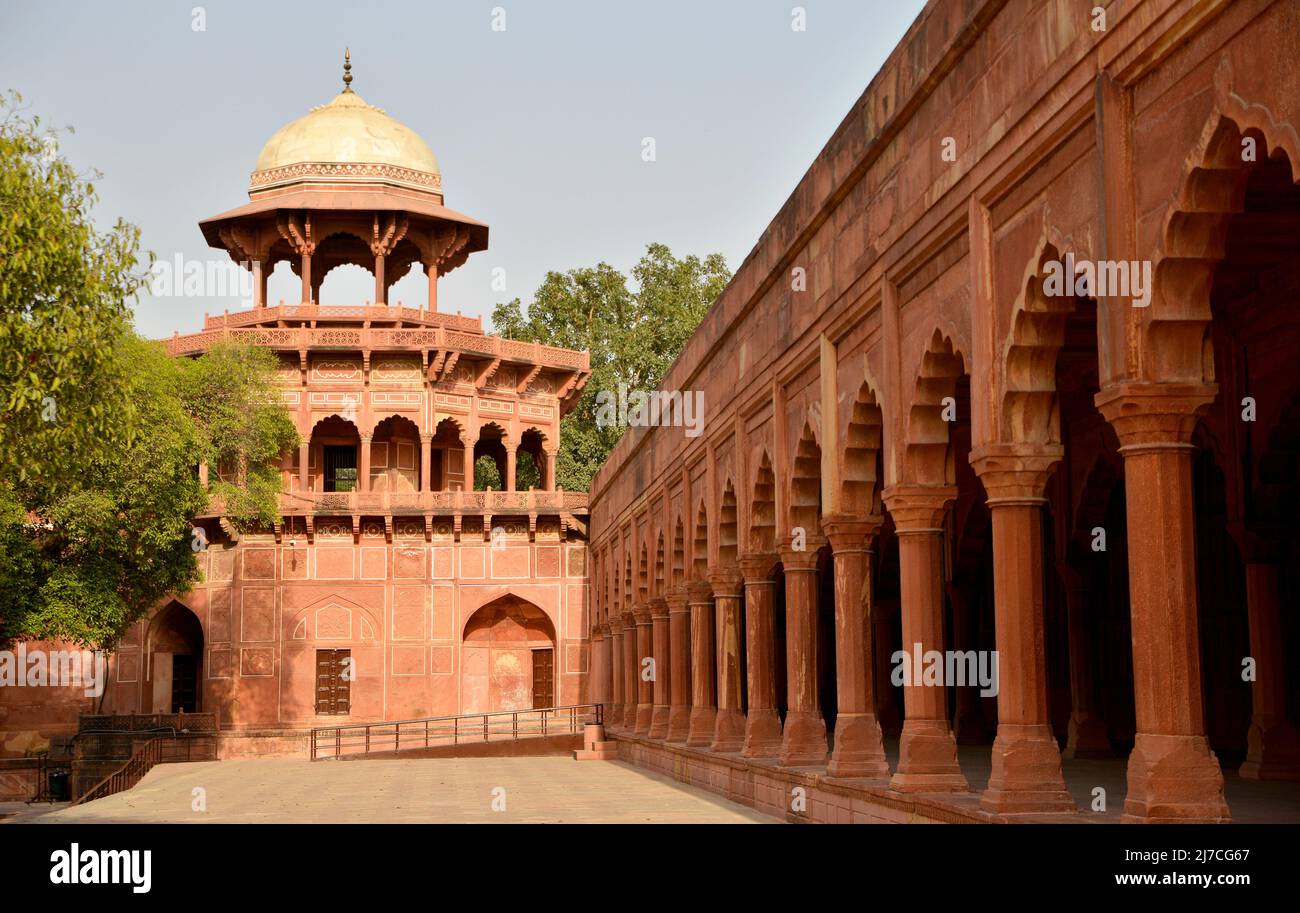
[[[705,434],[593,483],[621,757],[823,821],[1300,779],[1297,51],[1288,0],[927,4],[666,377]],[[914,645],[996,697],[896,687]]]

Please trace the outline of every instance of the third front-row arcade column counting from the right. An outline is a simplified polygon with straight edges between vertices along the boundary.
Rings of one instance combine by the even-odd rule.
[[[937,485],[892,485],[884,490],[898,536],[902,649],[944,650],[944,510],[957,489]],[[904,683],[898,770],[889,787],[900,792],[965,792],[957,763],[957,741],[948,724],[944,687],[923,684],[919,668]]]

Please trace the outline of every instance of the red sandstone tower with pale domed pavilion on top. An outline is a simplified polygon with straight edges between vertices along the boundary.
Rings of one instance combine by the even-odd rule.
[[[300,750],[325,722],[585,695],[586,494],[555,486],[555,458],[588,355],[437,310],[438,278],[486,248],[488,226],[443,205],[429,147],[350,86],[268,140],[248,196],[202,229],[251,268],[252,310],[168,347],[274,350],[302,438],[283,462],[282,519],[238,535],[220,505],[198,518],[202,581],[133,627],[101,700],[3,689],[6,756],[90,710],[212,713],[224,732],[259,735],[224,749],[239,753]],[[302,278],[300,303],[268,306],[280,261]],[[343,264],[373,273],[373,304],[316,303]],[[390,306],[416,268],[428,307]],[[485,455],[506,490],[473,490]],[[516,490],[519,460],[534,463],[536,490]]]

